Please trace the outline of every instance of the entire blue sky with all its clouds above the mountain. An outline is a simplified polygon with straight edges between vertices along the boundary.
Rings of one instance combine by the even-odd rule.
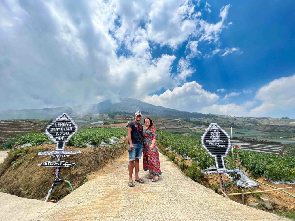
[[[295,118],[294,1],[1,1],[0,110],[137,98]]]

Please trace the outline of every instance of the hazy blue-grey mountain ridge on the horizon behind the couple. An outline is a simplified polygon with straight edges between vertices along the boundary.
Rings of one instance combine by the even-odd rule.
[[[136,111],[147,111],[156,116],[166,116],[170,118],[206,118],[214,117],[213,114],[202,114],[197,112],[187,112],[152,105],[137,99],[125,98],[119,103],[112,103],[105,100],[97,104],[78,105],[73,107],[58,107],[44,109],[25,109],[25,110],[4,110],[0,112],[1,120],[12,119],[51,119],[58,117],[61,113],[72,115],[86,115],[125,111],[135,113]]]

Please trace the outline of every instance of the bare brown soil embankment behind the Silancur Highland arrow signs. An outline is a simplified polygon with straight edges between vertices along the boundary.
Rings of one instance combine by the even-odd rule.
[[[121,141],[123,143],[107,147],[75,148],[67,146],[65,148],[67,151],[82,151],[82,153],[62,159],[75,163],[76,166],[73,168],[63,167],[60,171],[60,179],[68,180],[73,189],[77,189],[88,181],[88,176],[94,171],[103,168],[127,150],[127,138],[123,138]],[[0,164],[1,192],[29,199],[44,200],[53,183],[56,167],[37,166],[37,164],[51,160],[49,156],[38,156],[38,152],[55,150],[55,148],[56,144],[45,144],[9,151],[4,163]],[[68,184],[58,183],[50,195],[50,200],[56,202],[70,192]]]

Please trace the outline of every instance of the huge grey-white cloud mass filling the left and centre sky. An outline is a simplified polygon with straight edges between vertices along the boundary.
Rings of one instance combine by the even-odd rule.
[[[179,91],[196,72],[190,59],[201,56],[198,43],[218,44],[227,27],[230,5],[220,10],[221,21],[210,24],[194,4],[1,1],[0,80],[5,84],[0,110],[141,99],[162,88]],[[186,41],[186,54],[175,53]],[[171,54],[153,57],[152,50],[164,45]],[[209,103],[217,96],[201,86],[194,93]]]

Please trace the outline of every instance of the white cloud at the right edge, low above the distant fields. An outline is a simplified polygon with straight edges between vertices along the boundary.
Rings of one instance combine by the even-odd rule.
[[[255,95],[261,105],[250,110],[253,116],[265,116],[268,113],[278,113],[295,108],[295,74],[289,77],[275,79],[261,87]]]

